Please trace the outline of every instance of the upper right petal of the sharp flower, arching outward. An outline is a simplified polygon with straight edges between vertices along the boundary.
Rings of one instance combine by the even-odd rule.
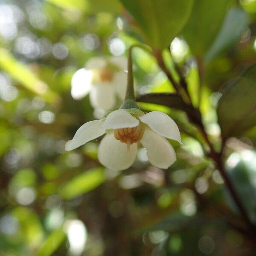
[[[172,118],[165,113],[160,111],[152,111],[138,117],[140,118],[141,122],[147,124],[157,134],[182,143],[179,128]]]

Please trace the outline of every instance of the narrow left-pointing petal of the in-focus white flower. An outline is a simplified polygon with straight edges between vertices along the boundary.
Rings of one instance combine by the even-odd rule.
[[[99,136],[105,134],[105,129],[101,126],[101,120],[94,120],[85,123],[77,131],[72,140],[68,141],[65,145],[67,151],[78,148],[90,140],[94,140]]]

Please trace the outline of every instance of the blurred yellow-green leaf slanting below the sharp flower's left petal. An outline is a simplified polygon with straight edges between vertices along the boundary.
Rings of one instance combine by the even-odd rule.
[[[105,172],[103,168],[89,169],[72,180],[64,184],[60,189],[60,195],[66,200],[70,200],[95,189],[105,181]]]

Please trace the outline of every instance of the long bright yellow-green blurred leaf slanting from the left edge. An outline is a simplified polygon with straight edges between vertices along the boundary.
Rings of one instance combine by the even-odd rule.
[[[47,84],[38,79],[25,64],[17,61],[11,53],[3,48],[0,48],[0,67],[27,90],[41,95],[48,102],[60,100],[56,93],[49,90]]]

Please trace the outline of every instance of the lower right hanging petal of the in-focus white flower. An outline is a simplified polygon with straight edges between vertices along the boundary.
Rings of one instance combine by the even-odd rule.
[[[141,144],[147,149],[149,162],[162,169],[167,169],[176,161],[173,147],[166,140],[150,128],[146,128]]]

